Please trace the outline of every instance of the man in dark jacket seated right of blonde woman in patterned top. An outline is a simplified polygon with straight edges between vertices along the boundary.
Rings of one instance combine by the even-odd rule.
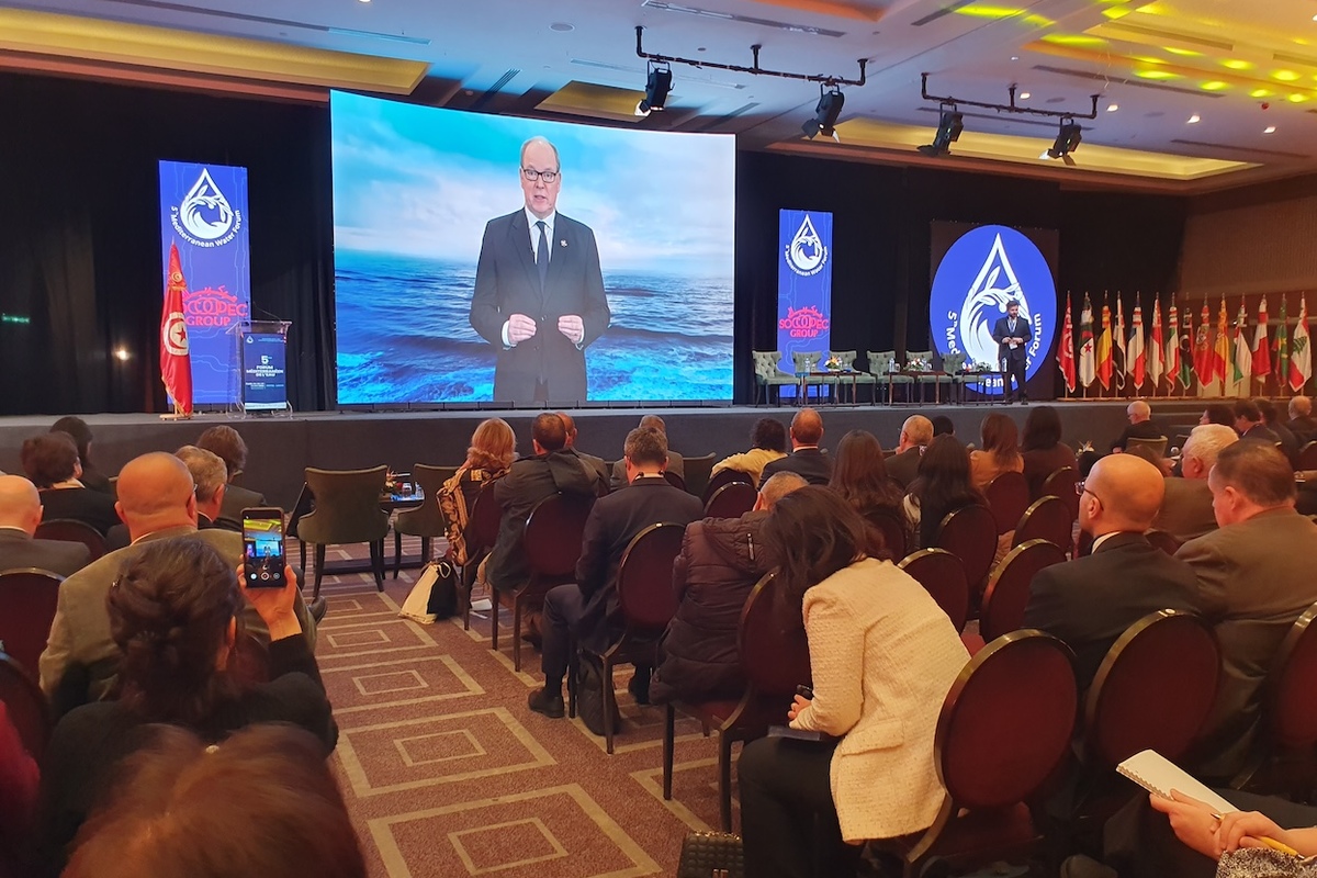
[[[494,499],[503,508],[494,549],[482,562],[481,582],[498,588],[516,588],[531,575],[522,554],[525,519],[540,500],[554,494],[595,496],[602,487],[597,473],[581,465],[566,448],[566,426],[553,412],[536,416],[531,426],[532,457],[512,463],[507,475],[494,482]]]

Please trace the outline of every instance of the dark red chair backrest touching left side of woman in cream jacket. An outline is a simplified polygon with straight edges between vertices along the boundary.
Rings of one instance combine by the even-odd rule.
[[[736,649],[745,681],[756,695],[790,700],[797,686],[813,681],[810,645],[801,612],[786,609],[780,588],[774,574],[768,573],[751,590],[741,608]]]

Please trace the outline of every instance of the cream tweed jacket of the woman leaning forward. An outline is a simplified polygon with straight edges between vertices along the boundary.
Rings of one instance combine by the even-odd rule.
[[[842,837],[927,828],[946,798],[938,713],[969,661],[951,620],[903,570],[867,558],[805,592],[805,631],[814,700],[792,725],[842,737],[831,765]]]

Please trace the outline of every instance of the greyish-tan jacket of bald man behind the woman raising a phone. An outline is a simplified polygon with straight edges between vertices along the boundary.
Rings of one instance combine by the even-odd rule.
[[[229,530],[196,530],[194,528],[169,528],[117,552],[97,558],[59,584],[59,603],[55,607],[55,620],[50,625],[50,638],[41,653],[38,669],[41,688],[53,695],[71,665],[92,667],[92,681],[88,696],[99,700],[115,682],[119,663],[119,645],[109,631],[109,613],[105,609],[105,595],[111,583],[119,577],[128,562],[142,553],[142,549],[158,540],[192,538],[213,546],[224,558],[237,567],[242,559],[242,537]],[[316,648],[316,627],[307,612],[306,602],[294,603],[298,621],[307,637],[311,652]],[[255,634],[261,642],[269,642],[270,631],[265,620],[248,604],[242,609],[244,628]]]

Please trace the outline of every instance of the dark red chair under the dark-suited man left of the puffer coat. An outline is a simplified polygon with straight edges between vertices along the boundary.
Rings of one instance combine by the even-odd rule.
[[[602,653],[581,648],[581,653],[599,662],[603,669],[603,740],[612,756],[612,720],[618,695],[612,690],[616,665],[644,663],[656,666],[658,638],[677,612],[677,594],[672,588],[672,562],[681,552],[686,527],[665,521],[651,524],[631,540],[618,566],[618,607],[626,620],[622,637]],[[576,674],[568,675],[569,716],[576,716]]]

